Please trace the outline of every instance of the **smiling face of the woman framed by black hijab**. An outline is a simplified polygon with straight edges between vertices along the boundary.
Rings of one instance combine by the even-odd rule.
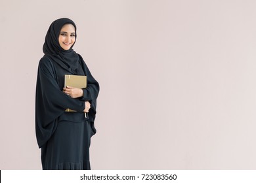
[[[69,50],[75,42],[75,27],[72,24],[66,24],[60,30],[58,42],[64,50]]]

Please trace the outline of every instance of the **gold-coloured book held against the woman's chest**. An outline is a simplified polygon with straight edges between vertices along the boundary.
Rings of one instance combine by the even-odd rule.
[[[87,87],[87,76],[79,75],[65,75],[64,87],[71,86],[74,88],[86,88]],[[70,108],[67,108],[65,112],[76,112]]]

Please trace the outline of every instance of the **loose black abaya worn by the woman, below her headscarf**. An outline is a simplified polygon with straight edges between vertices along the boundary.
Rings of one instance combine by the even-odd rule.
[[[83,97],[72,99],[62,92],[64,75],[72,73],[47,56],[39,62],[35,127],[43,169],[90,169],[89,146],[96,133],[99,86],[81,56],[79,64],[87,75],[87,88],[83,89]],[[85,101],[91,103],[87,118],[83,112]],[[66,108],[77,112],[64,112]]]

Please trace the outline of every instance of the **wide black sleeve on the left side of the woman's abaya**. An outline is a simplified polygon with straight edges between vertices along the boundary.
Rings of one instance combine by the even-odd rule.
[[[35,129],[39,148],[45,144],[56,129],[57,118],[66,108],[83,112],[85,103],[63,93],[57,82],[53,64],[42,58],[37,71],[35,96]]]

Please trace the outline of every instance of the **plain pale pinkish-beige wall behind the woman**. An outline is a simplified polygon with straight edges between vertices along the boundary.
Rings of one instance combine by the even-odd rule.
[[[256,169],[256,1],[0,0],[0,169],[41,169],[37,65],[51,22],[100,82],[92,169]]]

